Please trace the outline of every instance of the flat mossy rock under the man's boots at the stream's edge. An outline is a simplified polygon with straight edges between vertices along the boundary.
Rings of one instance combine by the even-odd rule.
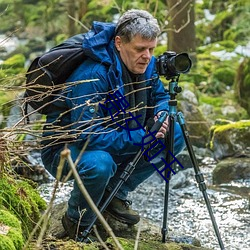
[[[53,207],[52,214],[51,214],[51,221],[47,230],[47,236],[43,241],[44,245],[53,244],[55,247],[56,245],[64,245],[67,248],[60,249],[70,249],[70,246],[73,249],[73,246],[82,246],[85,243],[76,243],[73,241],[69,241],[66,239],[57,239],[56,236],[58,234],[62,235],[63,227],[61,224],[61,217],[65,213],[67,208],[67,204],[60,203]],[[161,241],[161,229],[154,224],[150,223],[149,220],[141,219],[140,223],[135,226],[128,226],[126,224],[120,223],[114,220],[112,217],[105,215],[105,219],[112,228],[116,237],[118,237],[119,242],[122,244],[124,249],[132,250],[134,249],[135,239],[138,235],[138,231],[140,232],[139,235],[139,249],[155,249],[155,250],[209,250],[208,248],[204,248],[200,246],[200,241],[193,237],[185,237],[185,236],[176,236],[173,233],[169,234],[169,237],[166,239],[166,243],[162,243]],[[100,226],[99,226],[100,228]],[[62,241],[63,240],[63,241]],[[110,247],[109,249],[115,249],[114,243],[112,238],[107,238],[106,244]],[[47,243],[46,243],[47,242]],[[63,243],[64,242],[64,243]],[[80,244],[80,245],[79,245]],[[93,248],[91,248],[93,245]],[[84,249],[86,244],[84,245]],[[94,248],[96,247],[96,248]],[[57,248],[55,248],[57,249]],[[76,248],[78,249],[78,248]],[[103,249],[100,244],[91,243],[88,244],[86,249]]]

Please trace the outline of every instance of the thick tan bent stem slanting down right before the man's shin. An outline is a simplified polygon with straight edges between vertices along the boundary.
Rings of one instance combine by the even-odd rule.
[[[121,244],[119,243],[119,241],[117,240],[116,236],[114,235],[111,227],[106,222],[106,220],[104,219],[104,217],[102,216],[102,214],[100,213],[98,208],[96,207],[95,203],[93,202],[92,198],[90,197],[88,191],[86,190],[86,188],[85,188],[79,174],[77,173],[74,162],[73,162],[73,160],[71,158],[70,150],[69,149],[64,149],[61,152],[61,157],[66,158],[68,160],[69,166],[70,166],[70,168],[71,168],[71,170],[73,172],[73,176],[75,178],[76,183],[78,184],[79,189],[81,190],[84,198],[88,202],[90,208],[94,211],[94,213],[97,215],[98,219],[100,220],[100,222],[104,226],[105,230],[113,238],[115,245],[118,247],[119,250],[124,250],[123,247],[121,246]]]

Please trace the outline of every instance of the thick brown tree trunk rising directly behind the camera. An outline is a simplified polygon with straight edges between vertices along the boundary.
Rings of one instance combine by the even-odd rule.
[[[169,9],[168,50],[189,53],[196,59],[195,0],[167,0]]]

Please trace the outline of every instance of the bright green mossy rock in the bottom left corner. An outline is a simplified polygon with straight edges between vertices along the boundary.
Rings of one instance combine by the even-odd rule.
[[[21,223],[9,211],[0,209],[0,249],[22,249],[24,239]]]

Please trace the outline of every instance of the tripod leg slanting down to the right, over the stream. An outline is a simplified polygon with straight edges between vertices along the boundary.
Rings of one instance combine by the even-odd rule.
[[[218,226],[217,226],[214,214],[213,214],[213,210],[212,210],[212,207],[211,207],[211,204],[210,204],[210,201],[208,199],[207,192],[206,192],[207,188],[206,188],[206,184],[204,182],[204,177],[203,177],[203,174],[201,173],[201,171],[199,169],[198,162],[197,162],[197,159],[195,157],[195,154],[194,154],[191,142],[190,142],[189,133],[188,133],[187,128],[186,128],[186,124],[185,124],[183,114],[181,112],[178,112],[177,113],[177,118],[178,118],[179,124],[181,125],[181,130],[182,130],[185,142],[186,142],[186,146],[187,146],[187,149],[188,149],[190,159],[191,159],[191,161],[193,163],[193,167],[194,167],[194,171],[195,171],[195,179],[196,179],[196,181],[197,181],[197,183],[199,185],[200,191],[203,194],[203,197],[204,197],[204,200],[205,200],[205,203],[206,203],[206,206],[207,206],[207,209],[208,209],[208,212],[209,212],[209,215],[210,215],[210,218],[211,218],[211,221],[212,221],[212,224],[213,224],[213,228],[214,228],[216,237],[218,239],[220,248],[221,248],[221,250],[224,250],[225,247],[223,245],[223,242],[222,242],[222,239],[221,239],[221,236],[220,236],[220,232],[219,232],[219,229],[218,229]]]

